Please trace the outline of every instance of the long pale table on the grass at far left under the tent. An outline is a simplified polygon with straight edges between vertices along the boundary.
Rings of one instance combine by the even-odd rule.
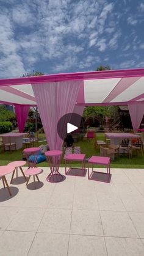
[[[26,133],[5,133],[1,134],[3,142],[7,143],[5,137],[10,137],[11,143],[16,144],[16,150],[20,149],[23,147],[23,136],[26,135]],[[6,150],[6,148],[5,148]],[[15,149],[12,149],[15,150]]]

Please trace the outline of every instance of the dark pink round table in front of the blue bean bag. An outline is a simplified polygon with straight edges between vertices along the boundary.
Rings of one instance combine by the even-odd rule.
[[[40,152],[40,148],[38,147],[24,148],[23,153],[26,156],[27,164],[29,165],[29,167],[36,167],[37,157],[39,155],[39,152]],[[30,156],[32,161],[29,158]]]

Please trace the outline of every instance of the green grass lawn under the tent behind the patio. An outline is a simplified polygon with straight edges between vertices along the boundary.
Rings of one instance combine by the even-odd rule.
[[[39,134],[40,139],[45,138],[44,134]],[[104,133],[97,133],[98,140],[104,140]],[[46,142],[39,142],[39,145],[45,145]],[[92,142],[88,144],[86,141],[78,141],[74,143],[76,146],[81,147],[81,153],[85,153],[86,158],[90,156],[96,155],[99,156],[99,148],[95,150]],[[0,153],[0,165],[4,166],[12,161],[21,160],[22,152],[24,148],[20,150],[16,150],[13,152],[1,152]],[[43,163],[37,164],[37,166],[48,167],[48,163],[45,161]],[[64,166],[64,162],[62,159],[61,166]],[[144,157],[139,153],[139,155],[132,155],[132,158],[128,158],[128,156],[121,155],[120,158],[115,157],[115,161],[111,161],[110,164],[113,168],[144,168]],[[73,162],[73,167],[81,167],[81,163]],[[101,167],[101,166],[98,166]]]

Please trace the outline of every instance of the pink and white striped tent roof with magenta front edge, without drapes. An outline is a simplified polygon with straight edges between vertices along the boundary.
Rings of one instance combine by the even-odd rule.
[[[76,103],[93,105],[128,104],[144,101],[144,68],[43,75],[0,79],[0,103],[35,106],[32,85],[82,81]]]

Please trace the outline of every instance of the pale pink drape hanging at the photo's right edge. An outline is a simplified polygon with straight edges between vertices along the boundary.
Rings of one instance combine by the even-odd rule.
[[[134,133],[139,129],[140,123],[142,122],[143,114],[144,114],[144,103],[143,102],[135,102],[128,103],[129,114],[131,116],[132,127]]]

